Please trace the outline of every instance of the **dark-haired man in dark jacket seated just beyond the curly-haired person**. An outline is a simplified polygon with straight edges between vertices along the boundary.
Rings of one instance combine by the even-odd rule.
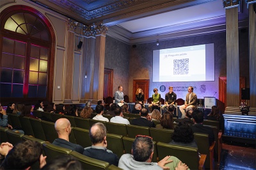
[[[214,139],[214,133],[211,127],[207,127],[203,125],[204,121],[204,113],[198,109],[193,111],[192,114],[194,125],[191,125],[193,132],[195,133],[202,133],[209,135],[209,146],[211,146]]]

